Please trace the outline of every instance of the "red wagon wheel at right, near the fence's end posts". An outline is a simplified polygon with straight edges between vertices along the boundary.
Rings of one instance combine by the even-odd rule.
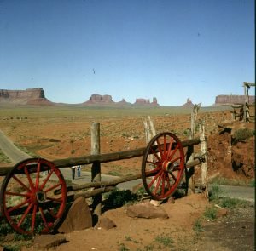
[[[160,133],[148,143],[143,156],[143,185],[155,200],[171,197],[183,177],[184,151],[175,134]]]

